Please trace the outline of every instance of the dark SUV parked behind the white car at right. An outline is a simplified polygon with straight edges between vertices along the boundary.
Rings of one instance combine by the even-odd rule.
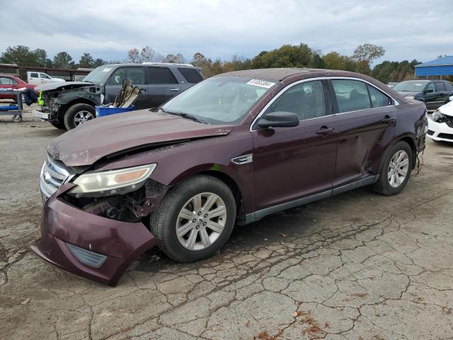
[[[453,85],[449,81],[408,80],[401,81],[393,89],[401,96],[423,101],[428,111],[437,110],[453,96]]]

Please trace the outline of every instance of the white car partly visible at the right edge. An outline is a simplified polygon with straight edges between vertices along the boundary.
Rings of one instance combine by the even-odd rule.
[[[428,137],[437,142],[453,142],[453,96],[428,119]]]

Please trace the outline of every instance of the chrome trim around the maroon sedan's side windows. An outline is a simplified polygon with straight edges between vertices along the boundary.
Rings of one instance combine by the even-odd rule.
[[[362,81],[366,84],[369,84],[370,86],[373,86],[374,89],[377,89],[377,91],[380,91],[382,92],[383,94],[385,94],[386,96],[390,97],[392,101],[394,101],[394,105],[387,105],[387,106],[378,106],[377,108],[387,108],[389,106],[398,106],[400,105],[399,102],[392,96],[390,96],[389,94],[387,94],[386,92],[382,91],[382,89],[379,89],[379,87],[375,86],[374,84],[370,83],[369,81],[366,81],[365,79],[360,79],[360,78],[355,78],[355,77],[314,77],[314,78],[308,78],[308,79],[302,79],[302,80],[298,80],[298,81],[294,81],[294,83],[291,83],[291,84],[288,84],[287,86],[285,86],[285,88],[283,88],[277,95],[275,95],[274,98],[272,98],[269,103],[266,104],[266,106],[261,109],[260,113],[258,113],[258,115],[256,115],[256,117],[253,119],[253,122],[251,123],[250,125],[250,132],[253,132],[253,131],[258,131],[258,130],[253,130],[253,125],[255,125],[258,120],[260,119],[260,117],[265,113],[265,111],[269,108],[269,106],[271,106],[274,101],[277,100],[277,98],[279,98],[283,93],[285,93],[285,91],[287,91],[288,89],[291,89],[292,86],[295,86],[295,85],[298,85],[298,84],[302,84],[302,83],[305,83],[306,81],[315,81],[315,80],[325,80],[325,79],[330,79],[330,80],[333,80],[333,79],[346,79],[346,80],[357,80],[357,81]],[[299,122],[306,122],[307,120],[314,120],[314,119],[319,119],[319,118],[325,118],[325,117],[330,117],[330,116],[333,116],[333,115],[343,115],[345,113],[352,113],[352,112],[360,112],[360,111],[365,111],[365,110],[374,110],[376,108],[364,108],[362,110],[355,110],[355,111],[347,111],[347,112],[339,112],[339,113],[333,113],[331,115],[323,115],[321,117],[314,117],[314,118],[309,118],[309,119],[304,119],[304,120],[299,120]]]

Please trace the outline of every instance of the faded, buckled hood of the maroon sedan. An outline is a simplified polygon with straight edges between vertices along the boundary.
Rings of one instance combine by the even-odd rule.
[[[206,125],[149,110],[96,118],[57,137],[48,154],[67,166],[87,166],[102,157],[166,142],[228,135],[234,125]]]

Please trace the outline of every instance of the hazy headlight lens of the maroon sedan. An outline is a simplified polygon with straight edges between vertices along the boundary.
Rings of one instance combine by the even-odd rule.
[[[139,188],[156,169],[157,164],[134,166],[132,168],[91,172],[74,180],[76,186],[69,193],[81,196],[85,193],[115,195],[128,193]],[[79,195],[77,195],[79,194]]]

